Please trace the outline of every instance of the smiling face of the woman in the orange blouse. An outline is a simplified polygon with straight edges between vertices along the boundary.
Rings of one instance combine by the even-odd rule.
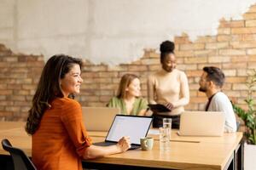
[[[73,64],[70,71],[60,81],[63,95],[67,97],[69,94],[79,94],[82,82],[80,66]]]

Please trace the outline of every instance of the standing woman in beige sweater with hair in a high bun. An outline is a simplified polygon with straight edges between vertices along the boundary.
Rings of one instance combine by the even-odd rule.
[[[188,78],[183,71],[176,69],[174,43],[160,44],[160,63],[162,69],[148,77],[149,104],[166,105],[170,112],[154,113],[153,127],[161,127],[164,117],[172,118],[172,128],[179,128],[183,106],[189,104]]]

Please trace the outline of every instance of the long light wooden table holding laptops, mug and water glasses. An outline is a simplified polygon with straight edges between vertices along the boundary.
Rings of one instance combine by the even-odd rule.
[[[10,142],[31,156],[31,137],[24,130],[24,123],[0,122],[0,139]],[[13,127],[12,127],[13,126]],[[89,132],[94,142],[104,140],[106,133]],[[106,156],[95,160],[84,160],[84,167],[104,167],[104,169],[241,169],[242,133],[224,133],[223,137],[181,137],[172,130],[171,150],[160,151],[158,135],[154,138],[153,150],[128,150],[122,154]],[[9,155],[0,150],[1,159]],[[237,159],[237,156],[239,159]],[[237,161],[238,160],[238,161]]]

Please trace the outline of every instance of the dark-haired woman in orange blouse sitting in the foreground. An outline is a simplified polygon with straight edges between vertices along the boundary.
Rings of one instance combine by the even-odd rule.
[[[83,82],[82,61],[67,55],[54,55],[44,66],[32,108],[26,122],[26,132],[32,134],[32,161],[38,169],[81,170],[81,159],[92,159],[124,152],[131,147],[129,137],[112,146],[91,144],[79,103]]]

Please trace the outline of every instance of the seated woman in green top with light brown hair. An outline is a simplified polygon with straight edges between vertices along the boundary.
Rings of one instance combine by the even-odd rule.
[[[117,96],[110,99],[108,107],[119,108],[121,114],[145,116],[148,109],[141,95],[141,82],[136,75],[125,74],[119,83]]]

